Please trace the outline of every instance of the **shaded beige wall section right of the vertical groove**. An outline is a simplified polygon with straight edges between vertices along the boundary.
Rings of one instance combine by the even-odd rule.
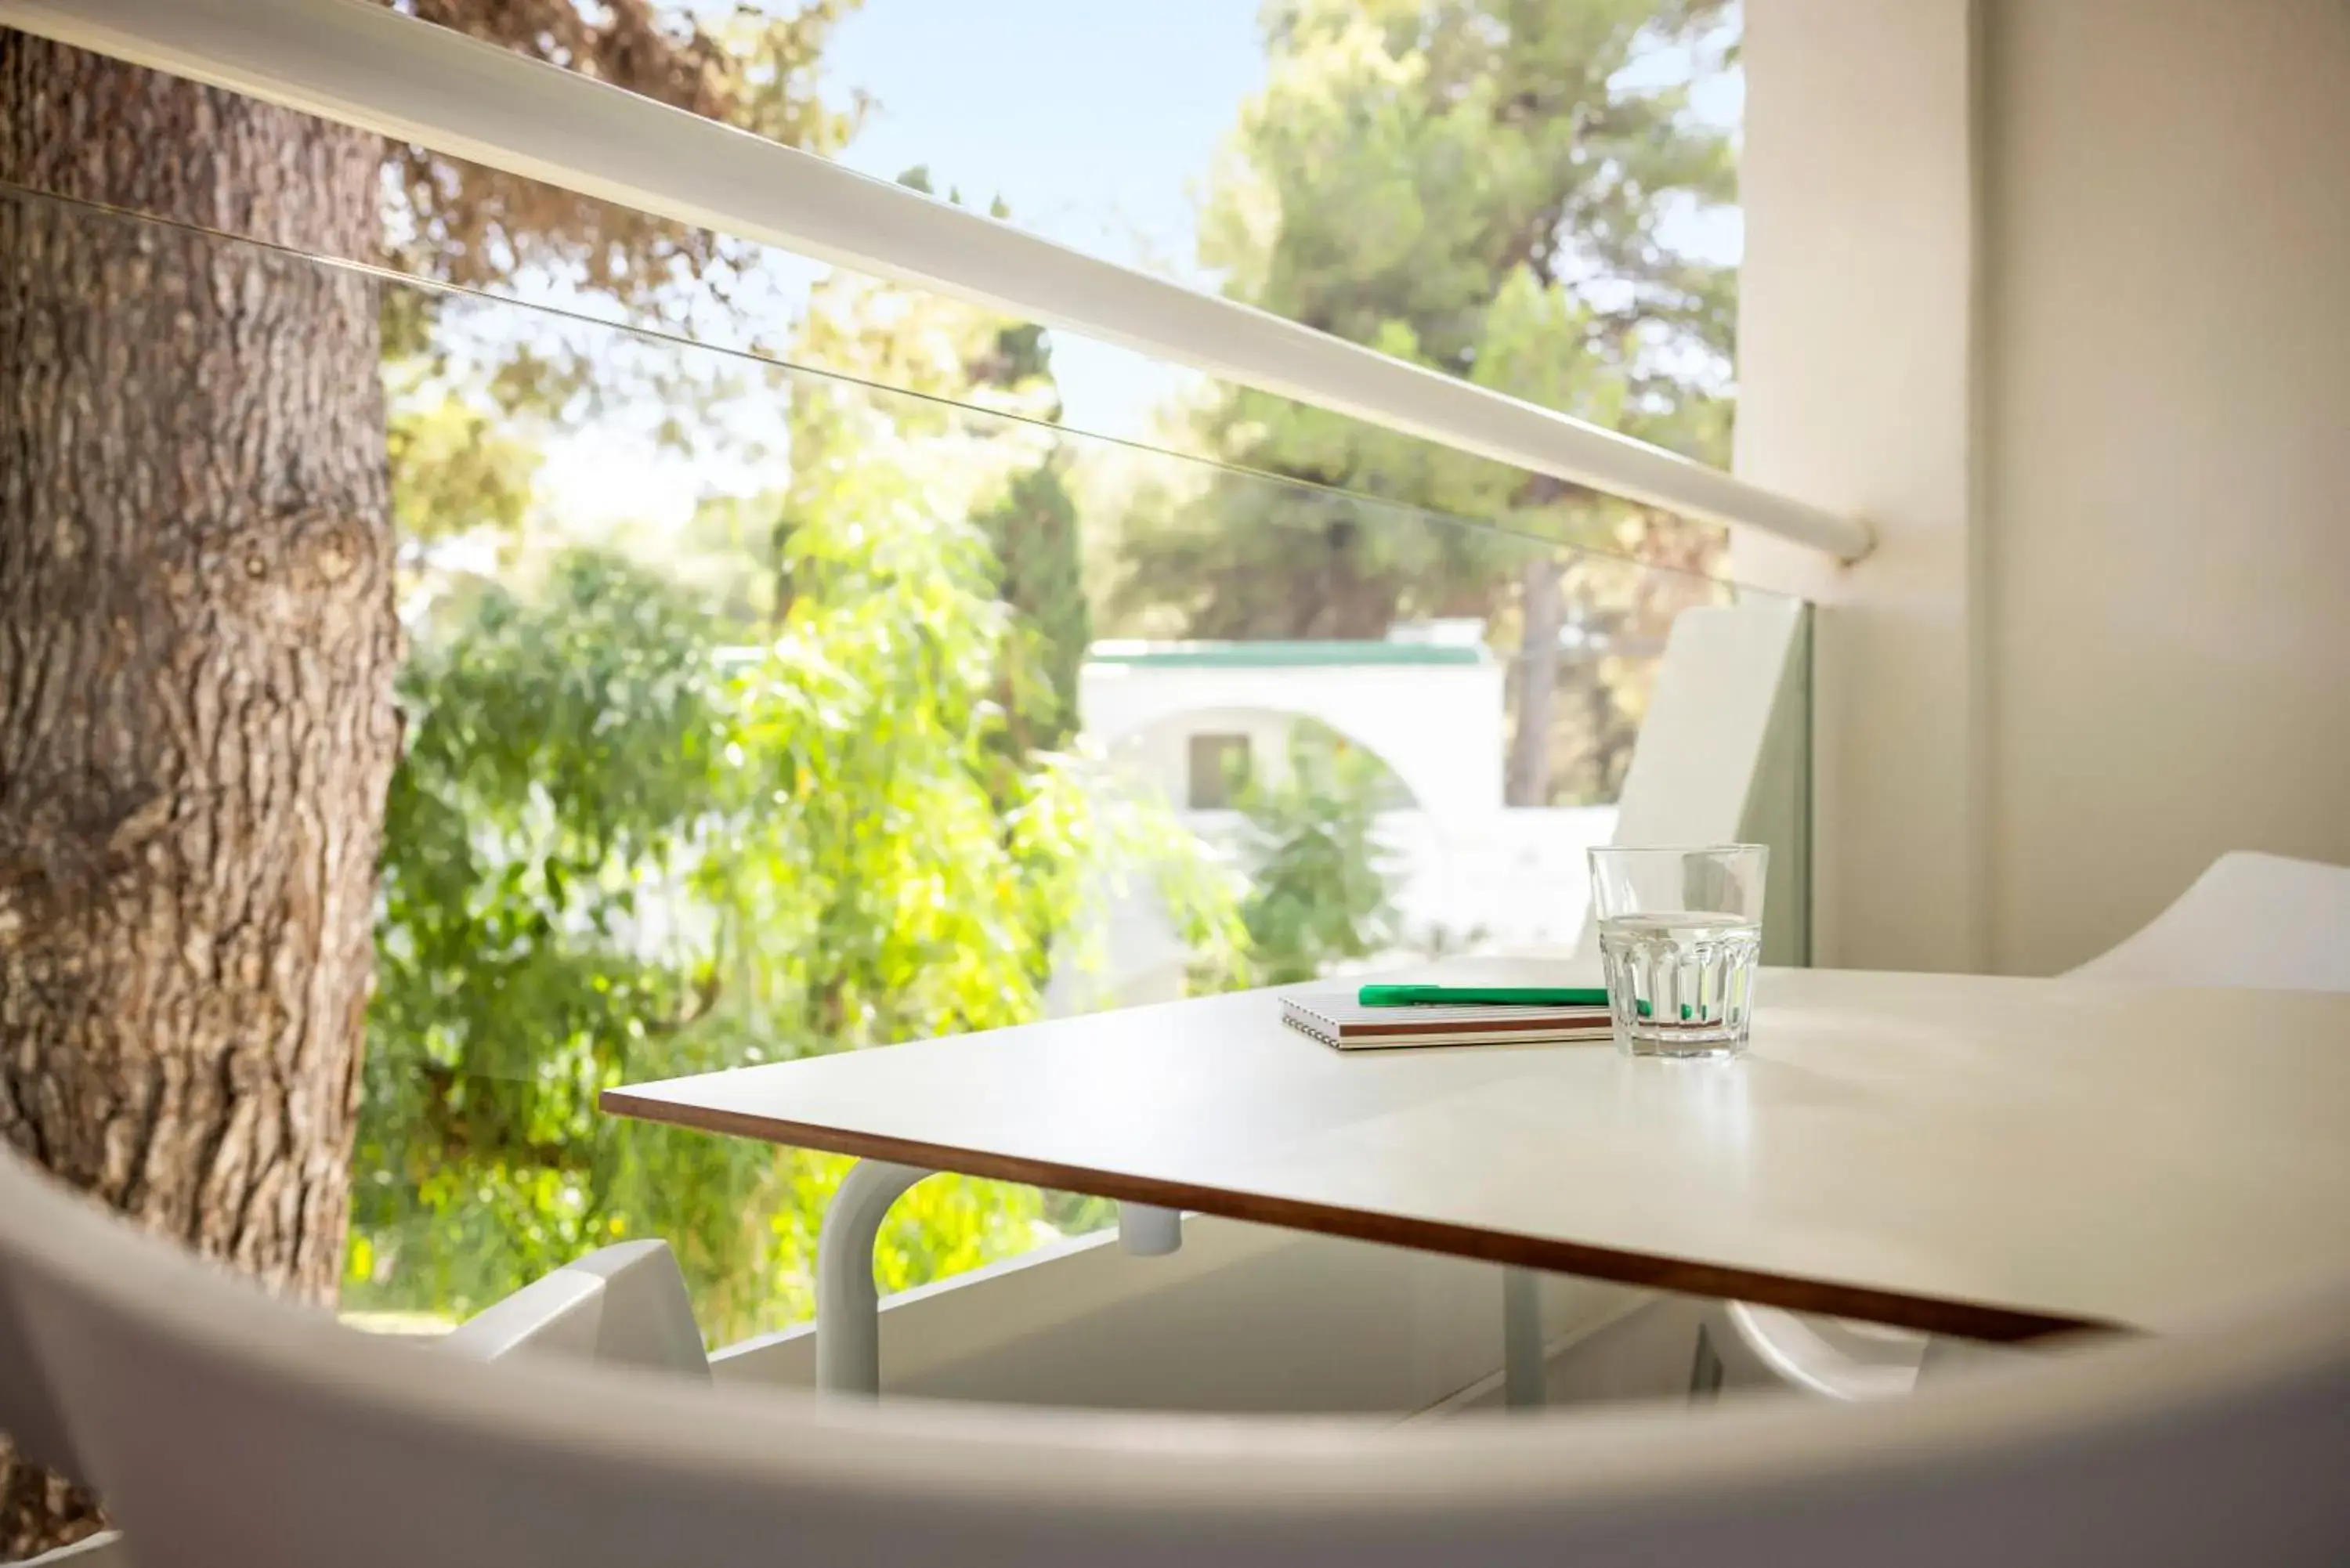
[[[1993,964],[2350,863],[2350,5],[1986,28]]]

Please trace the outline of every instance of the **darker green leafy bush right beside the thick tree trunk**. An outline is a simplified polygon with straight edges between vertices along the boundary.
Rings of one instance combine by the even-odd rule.
[[[463,1316],[653,1232],[632,1178],[698,1154],[613,1135],[595,1095],[696,1044],[714,966],[639,900],[707,811],[726,691],[693,607],[595,557],[439,621],[402,675],[345,1302]],[[714,1152],[696,1197],[757,1185]],[[658,1234],[733,1260],[710,1229]]]

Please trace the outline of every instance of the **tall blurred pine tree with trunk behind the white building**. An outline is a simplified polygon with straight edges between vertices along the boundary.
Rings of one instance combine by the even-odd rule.
[[[1201,261],[1276,315],[1723,461],[1734,273],[1659,226],[1732,200],[1732,146],[1685,87],[1636,68],[1701,68],[1730,16],[1727,0],[1276,0]],[[1560,559],[1410,508],[1579,545],[1678,524],[1250,390],[1198,409],[1196,437],[1328,489],[1236,475],[1137,508],[1114,607],[1175,607],[1201,637],[1506,614],[1523,628],[1509,799],[1546,804]]]

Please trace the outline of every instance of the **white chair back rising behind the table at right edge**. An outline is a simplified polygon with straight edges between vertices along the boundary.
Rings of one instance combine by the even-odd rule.
[[[2350,865],[2225,853],[2070,978],[2350,992]]]

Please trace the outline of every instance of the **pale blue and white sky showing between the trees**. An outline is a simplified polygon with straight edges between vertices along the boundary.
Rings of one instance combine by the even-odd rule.
[[[1640,75],[1664,82],[1687,66],[1652,56]],[[1196,287],[1215,280],[1196,266],[1194,202],[1262,85],[1257,0],[865,0],[825,49],[825,94],[872,99],[844,165],[879,179],[926,165],[940,195],[1001,197],[1022,228]],[[1741,108],[1734,75],[1697,99],[1725,125]],[[1720,259],[1741,247],[1737,214],[1666,237]],[[1069,334],[1053,339],[1053,376],[1069,428],[1135,440],[1191,381]],[[609,442],[599,433],[550,465],[569,510],[689,505],[672,465]]]

